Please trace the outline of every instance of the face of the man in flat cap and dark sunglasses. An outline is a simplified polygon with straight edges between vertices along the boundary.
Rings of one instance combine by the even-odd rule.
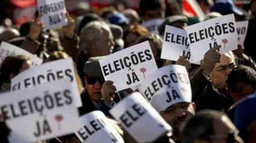
[[[96,78],[96,77],[84,77],[84,83],[86,84],[87,93],[90,96],[92,101],[96,102],[96,104],[101,101],[101,87],[104,83],[104,78]]]

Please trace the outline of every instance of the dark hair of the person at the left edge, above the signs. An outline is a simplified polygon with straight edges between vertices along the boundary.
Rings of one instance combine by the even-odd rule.
[[[0,69],[1,82],[10,83],[10,74],[17,75],[23,63],[30,58],[24,55],[8,56],[4,59]]]

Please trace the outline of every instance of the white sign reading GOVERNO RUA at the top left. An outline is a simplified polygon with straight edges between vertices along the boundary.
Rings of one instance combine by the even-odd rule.
[[[66,6],[64,0],[37,0],[38,11],[43,15],[45,29],[67,25]]]

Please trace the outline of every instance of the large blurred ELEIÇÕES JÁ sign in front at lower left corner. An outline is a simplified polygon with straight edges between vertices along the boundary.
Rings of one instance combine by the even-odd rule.
[[[36,142],[72,133],[80,121],[74,93],[66,79],[2,93],[0,114],[7,117],[10,142]]]

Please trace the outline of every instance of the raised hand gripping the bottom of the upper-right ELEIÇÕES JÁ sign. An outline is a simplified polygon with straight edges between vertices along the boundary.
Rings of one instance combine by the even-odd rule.
[[[205,75],[209,75],[213,71],[215,63],[220,62],[219,48],[221,46],[213,47],[204,54],[204,62],[202,63],[202,71]]]

